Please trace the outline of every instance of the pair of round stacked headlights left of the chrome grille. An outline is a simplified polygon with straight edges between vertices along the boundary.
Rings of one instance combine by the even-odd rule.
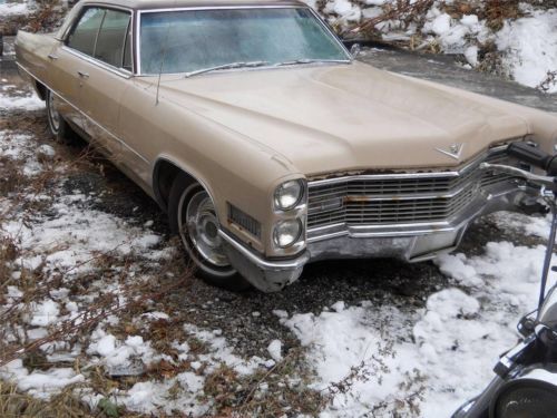
[[[278,185],[274,193],[274,208],[284,213],[283,220],[274,225],[273,243],[280,249],[293,246],[304,235],[305,185],[301,179]],[[292,217],[291,217],[292,216]]]

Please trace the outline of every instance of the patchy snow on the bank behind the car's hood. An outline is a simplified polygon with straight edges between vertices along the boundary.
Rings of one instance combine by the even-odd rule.
[[[315,0],[306,3],[317,9],[335,27],[351,29],[363,19],[381,17],[385,6],[397,7],[394,0],[329,0],[324,7]],[[460,19],[444,12],[450,1],[434,1],[423,16],[414,17],[408,26],[402,20],[381,20],[375,25],[384,40],[409,41],[418,35],[417,22],[423,20],[423,43],[437,45],[443,54],[463,55],[468,65],[477,67],[480,49],[495,43],[501,57],[501,70],[528,87],[540,87],[548,74],[557,71],[557,9],[539,10],[521,6],[525,17],[506,19],[502,29],[489,29],[477,14],[462,14]],[[557,77],[556,77],[557,78]],[[557,80],[544,85],[547,93],[557,93]]]

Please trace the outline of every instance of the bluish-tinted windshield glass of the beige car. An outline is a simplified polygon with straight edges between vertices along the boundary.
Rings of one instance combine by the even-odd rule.
[[[232,62],[350,59],[304,8],[146,12],[140,25],[143,74],[192,72]]]

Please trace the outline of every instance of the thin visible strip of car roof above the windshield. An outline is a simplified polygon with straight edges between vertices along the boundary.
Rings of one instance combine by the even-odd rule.
[[[296,0],[109,0],[82,1],[82,4],[119,6],[136,10],[211,7],[307,7]]]

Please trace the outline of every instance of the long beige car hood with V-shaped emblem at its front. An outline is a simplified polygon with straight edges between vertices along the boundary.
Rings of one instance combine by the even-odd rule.
[[[529,132],[492,99],[360,62],[165,80],[160,97],[261,143],[306,175],[458,166]]]

